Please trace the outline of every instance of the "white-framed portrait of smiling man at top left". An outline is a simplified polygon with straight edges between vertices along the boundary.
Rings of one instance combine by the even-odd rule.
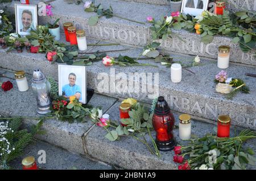
[[[30,34],[38,26],[38,7],[36,5],[15,4],[16,33]]]

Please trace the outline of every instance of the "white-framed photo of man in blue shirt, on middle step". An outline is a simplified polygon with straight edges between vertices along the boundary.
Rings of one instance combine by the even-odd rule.
[[[86,69],[85,66],[59,65],[59,95],[69,99],[75,96],[86,104]]]

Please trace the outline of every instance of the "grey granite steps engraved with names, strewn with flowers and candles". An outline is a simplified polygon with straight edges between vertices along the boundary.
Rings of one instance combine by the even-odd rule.
[[[129,1],[129,2],[127,2]],[[96,5],[101,2],[105,8],[111,4],[114,13],[118,15],[144,22],[148,15],[156,19],[161,15],[170,14],[170,7],[167,1],[154,0],[96,0]],[[31,1],[32,4],[38,1]],[[250,1],[250,5],[253,1]],[[83,11],[83,6],[67,5],[61,0],[51,3],[54,7],[53,19],[60,18],[60,23],[73,22],[78,28],[86,30],[88,43],[106,43],[108,41],[121,43],[121,45],[111,47],[89,47],[87,52],[96,50],[129,49],[122,52],[108,53],[110,56],[117,57],[119,53],[130,57],[138,57],[142,52],[142,46],[151,42],[150,24],[146,25],[127,22],[118,18],[101,18],[96,26],[88,26],[88,20],[93,13]],[[156,4],[156,5],[155,5]],[[14,11],[14,3],[8,4],[9,9]],[[68,12],[68,13],[67,13]],[[39,24],[44,24],[49,19],[39,17]],[[169,53],[175,61],[189,62],[195,55],[199,54],[201,66],[188,68],[193,71],[183,70],[183,80],[180,83],[172,83],[170,69],[153,60],[141,60],[139,62],[157,65],[159,68],[152,67],[119,67],[113,66],[106,68],[101,62],[95,62],[92,66],[86,67],[87,86],[96,90],[89,104],[102,106],[104,112],[109,113],[110,119],[119,120],[118,105],[123,98],[133,97],[139,102],[151,104],[155,96],[164,95],[169,106],[174,111],[176,124],[179,114],[189,113],[193,115],[192,133],[196,136],[203,136],[207,132],[213,132],[217,116],[229,114],[232,117],[232,132],[234,128],[250,128],[256,130],[256,79],[246,77],[245,73],[256,73],[256,60],[253,54],[244,54],[237,44],[232,43],[232,39],[223,36],[214,37],[211,44],[203,44],[200,36],[187,31],[175,31],[180,35],[185,43],[176,39],[168,39],[162,43],[163,52]],[[62,41],[64,38],[62,37]],[[250,94],[239,94],[233,100],[227,100],[224,95],[215,92],[214,75],[220,69],[217,68],[217,48],[218,45],[230,45],[232,47],[232,63],[227,69],[230,77],[242,78],[250,87]],[[7,53],[0,49],[0,72],[7,77],[13,78],[10,70],[25,70],[31,74],[35,68],[40,68],[48,75],[58,79],[57,64],[51,64],[46,60],[44,54]],[[102,74],[105,73],[105,74]],[[129,73],[138,74],[138,78],[130,77]],[[120,83],[118,75],[123,75],[122,79],[133,85],[139,83],[142,87],[139,92],[131,91],[133,87],[127,87],[130,91],[118,91],[116,85]],[[104,76],[103,76],[104,75]],[[103,76],[103,77],[102,77]],[[150,77],[147,81],[140,81],[143,76]],[[8,78],[1,78],[1,82]],[[102,81],[108,81],[109,89],[101,89],[99,86]],[[15,85],[15,81],[12,81]],[[159,82],[159,84],[158,84]],[[143,92],[142,90],[146,90]],[[114,90],[114,91],[111,91]],[[152,91],[153,90],[153,91]],[[35,113],[36,102],[31,90],[19,92],[17,87],[11,91],[3,93],[0,91],[1,100],[0,115],[3,116],[38,116]],[[8,106],[6,106],[8,105]],[[25,119],[24,127],[30,127],[36,121]],[[151,155],[146,146],[132,138],[122,138],[120,141],[110,142],[106,140],[104,129],[96,127],[90,123],[65,123],[57,120],[46,120],[43,129],[47,131],[44,136],[38,138],[49,144],[60,146],[68,151],[88,155],[110,165],[118,165],[125,169],[176,169],[177,165],[172,161],[173,151],[162,153],[161,158]],[[175,129],[175,136],[178,137],[178,130]],[[152,133],[154,134],[154,133]],[[177,138],[181,144],[183,143]],[[256,150],[255,140],[248,143]],[[119,154],[117,154],[119,153]]]

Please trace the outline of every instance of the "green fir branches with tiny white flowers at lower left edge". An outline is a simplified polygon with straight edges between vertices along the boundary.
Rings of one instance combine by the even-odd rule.
[[[8,121],[7,121],[8,120]],[[43,121],[27,129],[20,129],[22,119],[20,118],[2,118],[0,119],[0,170],[10,169],[9,163],[23,154],[24,148],[32,142],[35,134],[42,134],[40,130]]]

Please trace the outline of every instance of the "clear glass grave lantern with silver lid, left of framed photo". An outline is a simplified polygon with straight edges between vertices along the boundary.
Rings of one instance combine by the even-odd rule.
[[[38,109],[36,112],[39,114],[46,114],[51,112],[51,84],[40,69],[34,70],[31,87],[34,91],[36,101],[38,103]]]

